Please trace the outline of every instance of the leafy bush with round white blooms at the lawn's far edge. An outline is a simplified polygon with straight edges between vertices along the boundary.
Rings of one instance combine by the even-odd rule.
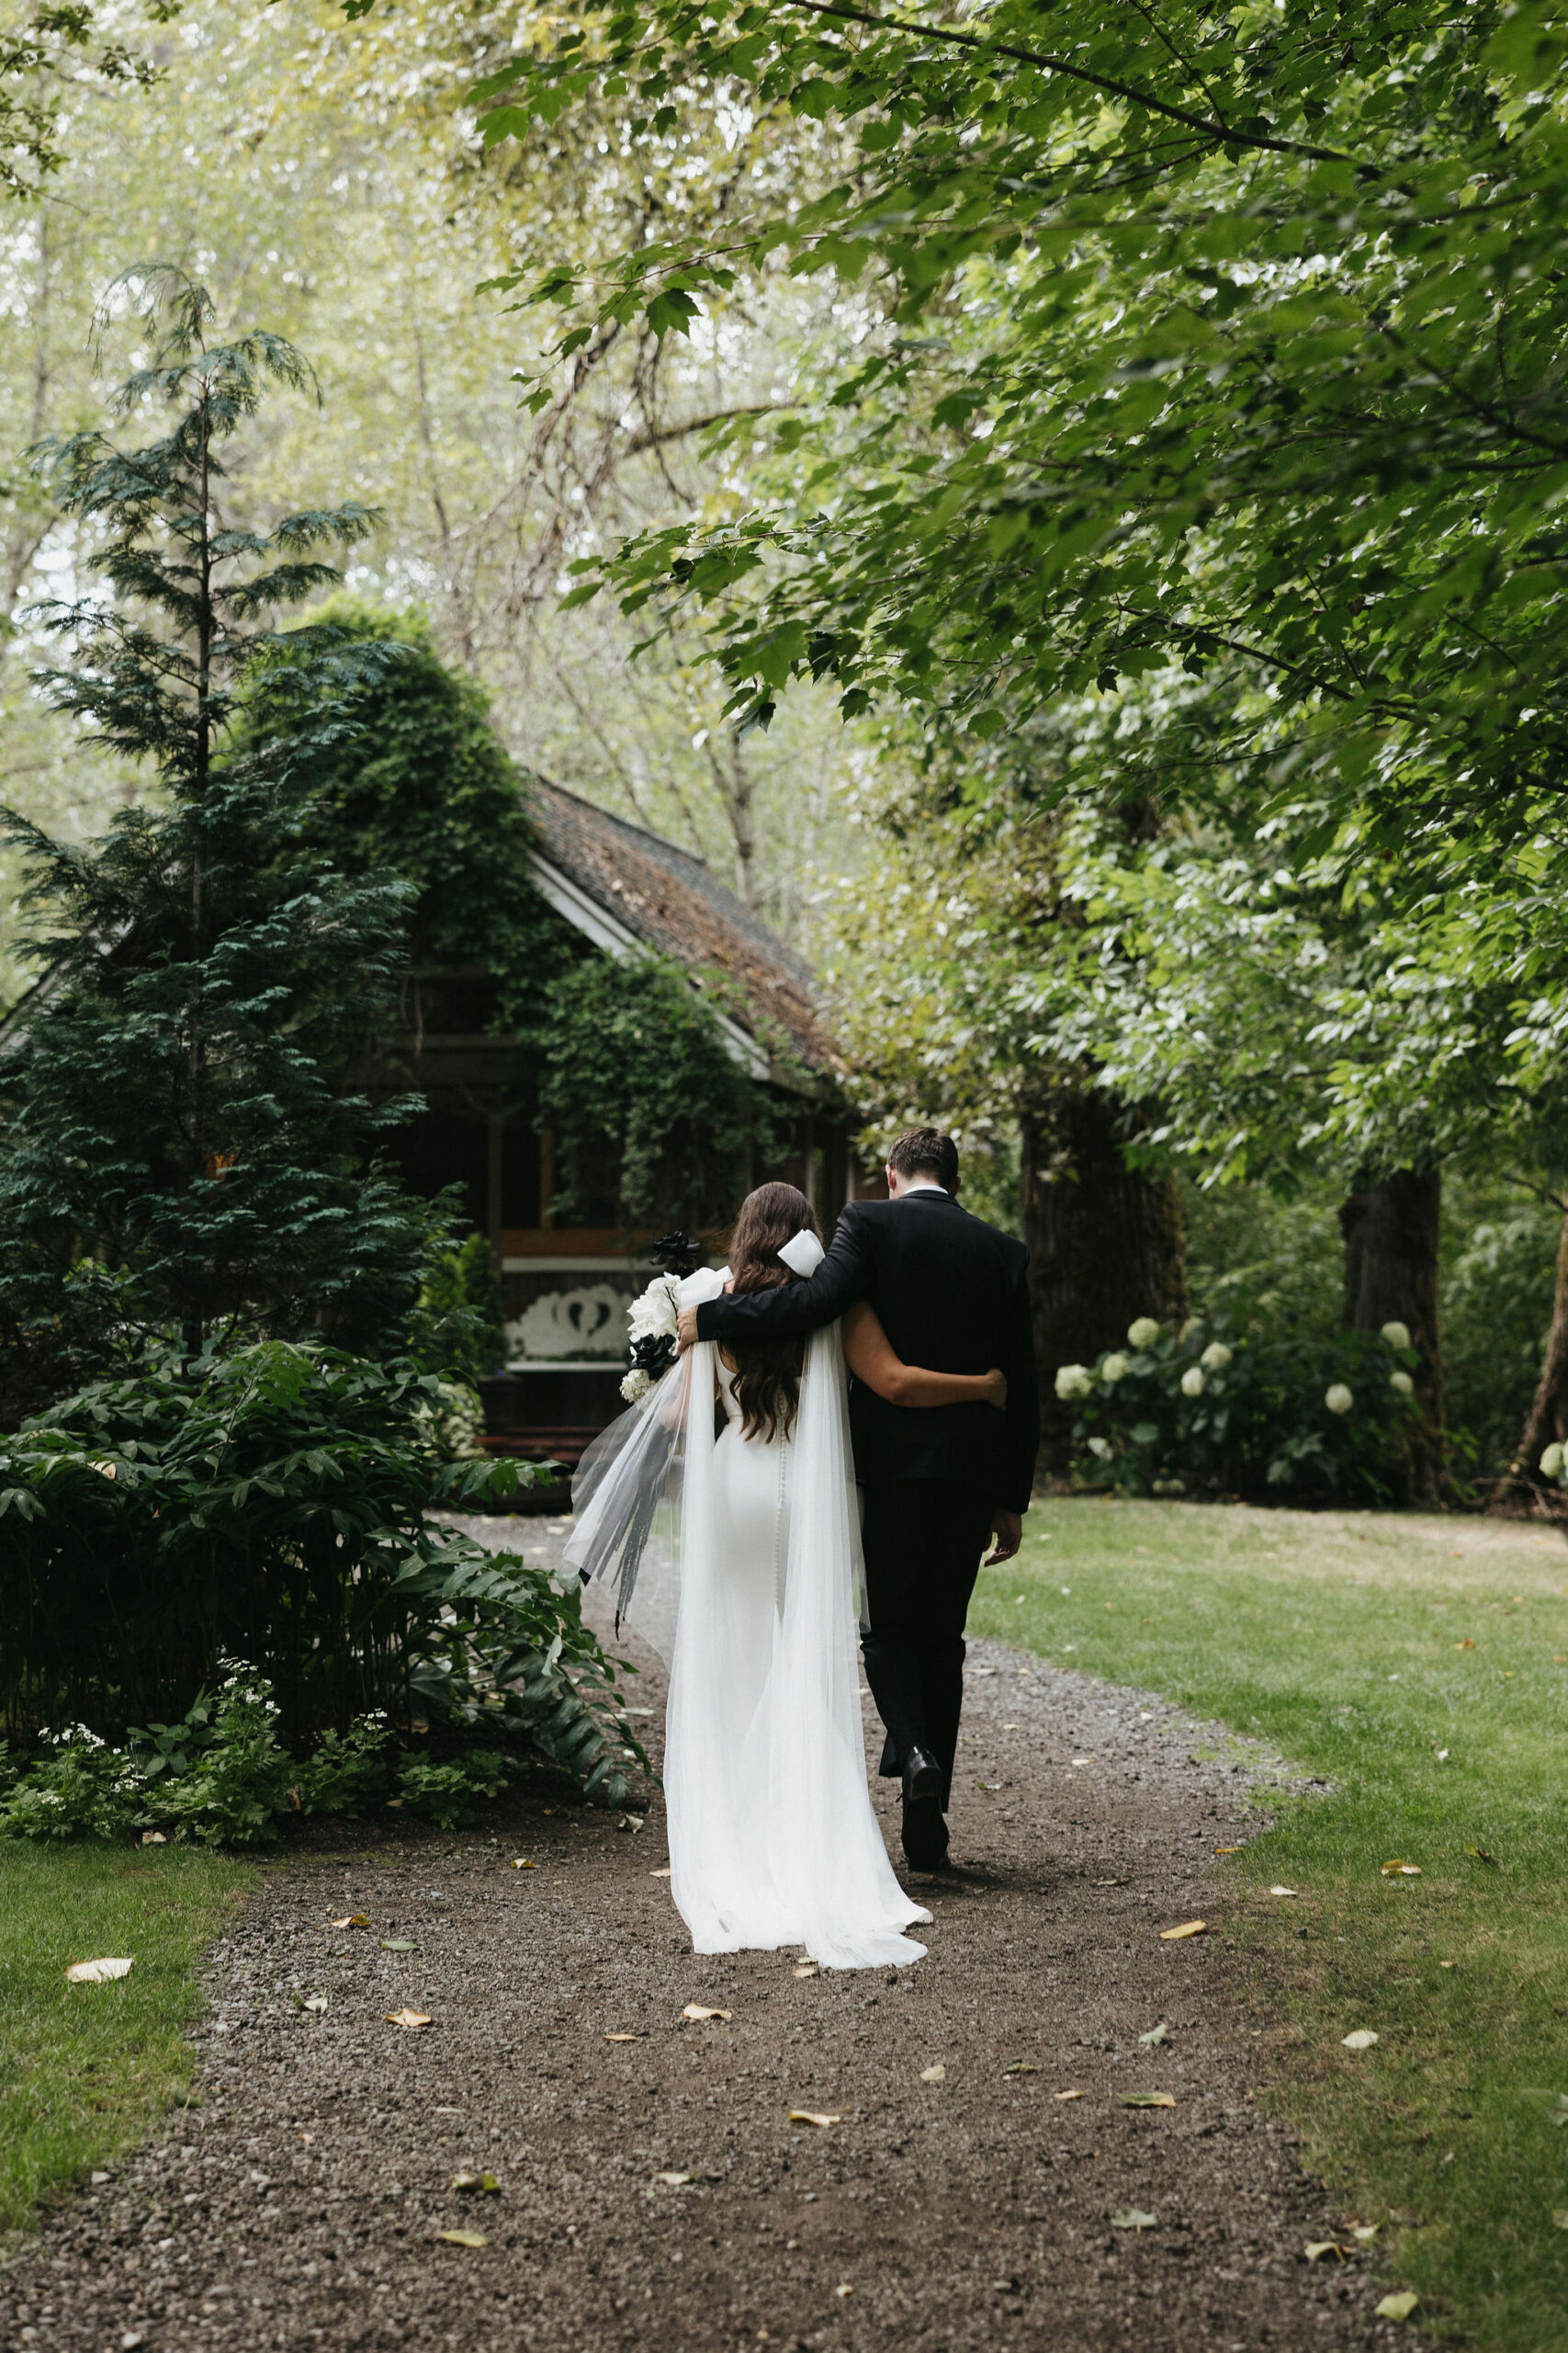
[[[1403,1344],[1401,1344],[1403,1341]],[[1410,1367],[1403,1327],[1333,1339],[1225,1339],[1152,1318],[1095,1365],[1063,1365],[1091,1485],[1128,1494],[1253,1494],[1389,1504],[1408,1494]]]

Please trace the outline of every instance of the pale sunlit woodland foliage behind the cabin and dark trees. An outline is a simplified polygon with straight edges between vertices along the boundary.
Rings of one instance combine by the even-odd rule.
[[[524,52],[545,31],[524,26]],[[1284,727],[1255,678],[1204,668],[1208,654],[1161,668],[1145,647],[1121,680],[1112,664],[1046,711],[1001,701],[954,732],[917,699],[856,692],[839,706],[832,661],[813,680],[790,621],[759,727],[755,699],[738,706],[733,659],[729,675],[705,659],[724,652],[705,602],[574,595],[628,536],[722,536],[769,501],[825,511],[839,478],[813,489],[792,419],[856,369],[870,381],[893,367],[886,407],[856,416],[865,440],[835,459],[860,482],[867,447],[900,435],[910,468],[929,473],[980,402],[1006,289],[985,264],[964,280],[961,254],[938,301],[945,341],[914,336],[907,273],[842,254],[837,271],[797,275],[766,240],[729,282],[710,271],[701,299],[677,287],[616,313],[628,252],[722,242],[736,216],[806,216],[853,165],[846,118],[698,80],[649,129],[602,82],[574,85],[571,111],[543,108],[527,139],[487,144],[465,92],[484,75],[505,85],[517,21],[433,0],[355,24],[329,0],[242,14],[202,0],[127,9],[113,33],[122,54],[28,54],[14,78],[49,139],[21,155],[0,214],[5,798],[71,842],[148,788],[31,685],[28,607],[82,593],[87,527],[52,504],[24,449],[101,416],[143,332],[106,289],[132,264],[169,261],[226,318],[294,339],[320,379],[320,405],[294,391],[247,438],[230,511],[268,529],[315,504],[376,508],[348,588],[428,616],[512,760],[696,849],[816,960],[867,1148],[907,1118],[943,1118],[964,1139],[976,1207],[1027,1231],[1048,1264],[1117,1261],[1093,1299],[1058,1299],[1058,1353],[1105,1348],[1128,1311],[1326,1341],[1356,1320],[1342,1207],[1408,1162],[1432,1172],[1420,1214],[1436,1235],[1448,1468],[1462,1485],[1495,1480],[1552,1322],[1554,1115],[1528,1087],[1483,1099],[1469,1075],[1502,1052],[1500,984],[1488,1002],[1472,991],[1462,1085],[1443,1096],[1439,1080],[1427,1101],[1408,1082],[1392,1111],[1366,1111],[1366,1073],[1399,1061],[1401,1021],[1420,1059],[1427,1019],[1420,995],[1389,995],[1382,979],[1413,960],[1392,936],[1408,922],[1396,894],[1378,901],[1399,847],[1385,831],[1368,852],[1382,880],[1347,918],[1321,809],[1298,812],[1300,840],[1295,819],[1272,819],[1267,840],[1248,831],[1258,746],[1279,748]],[[898,104],[893,134],[917,125]],[[884,148],[867,134],[867,151]],[[527,301],[541,275],[585,320],[564,344],[562,315],[576,313]],[[675,308],[661,315],[661,301]],[[926,348],[969,388],[910,421],[900,402]],[[752,671],[769,675],[766,649]],[[1225,779],[1241,779],[1232,802]],[[16,878],[0,866],[7,998],[26,979]],[[1213,972],[1229,972],[1229,939],[1246,953],[1225,995]],[[1439,965],[1458,955],[1439,941]],[[1324,1045],[1309,1019],[1328,991],[1340,1031]],[[1175,1002],[1199,1040],[1185,1059],[1171,1049]],[[1269,1054],[1239,1042],[1258,1031]],[[1074,1167],[1081,1184],[1056,1181]],[[1100,1181],[1121,1226],[1077,1214]],[[1121,1247],[1128,1235],[1138,1247]],[[1093,1282],[1079,1275],[1079,1289]],[[1375,1329],[1380,1313],[1361,1320]],[[1436,1325],[1415,1322],[1432,1362]]]

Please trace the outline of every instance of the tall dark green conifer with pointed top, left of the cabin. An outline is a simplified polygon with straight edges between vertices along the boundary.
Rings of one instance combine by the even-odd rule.
[[[71,645],[45,692],[153,791],[87,849],[19,816],[42,976],[0,1033],[0,1351],[12,1405],[110,1339],[322,1329],[395,1337],[430,1214],[367,1172],[378,1111],[343,1073],[404,955],[407,885],[308,856],[313,765],[395,652],[270,626],[339,579],[324,551],[362,506],[226,520],[226,445],[268,388],[310,393],[280,336],[209,341],[214,306],[174,271],[125,285],[153,358],[118,416],[139,447],[40,445],[56,501],[99,534],[110,598],[38,609]],[[242,720],[242,725],[237,725]]]

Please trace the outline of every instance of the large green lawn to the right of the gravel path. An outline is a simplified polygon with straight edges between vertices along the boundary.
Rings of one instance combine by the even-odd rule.
[[[1037,1504],[1025,1527],[980,1577],[976,1633],[1333,1781],[1220,1868],[1274,2017],[1302,2031],[1276,2099],[1345,2219],[1382,2224],[1427,2332],[1568,2344],[1568,1544],[1126,1501]],[[1420,1878],[1385,1878],[1392,1859]],[[1378,2047],[1342,2049],[1363,2026]]]

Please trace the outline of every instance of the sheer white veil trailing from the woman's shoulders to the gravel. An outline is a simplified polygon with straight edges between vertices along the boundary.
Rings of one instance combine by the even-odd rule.
[[[708,1271],[682,1304],[717,1297]],[[670,1892],[698,1953],[802,1944],[823,1967],[919,1960],[865,1786],[860,1527],[839,1327],[806,1344],[783,1609],[757,1682],[726,1579],[715,1348],[698,1344],[602,1433],[574,1482],[567,1560],[670,1664]]]

